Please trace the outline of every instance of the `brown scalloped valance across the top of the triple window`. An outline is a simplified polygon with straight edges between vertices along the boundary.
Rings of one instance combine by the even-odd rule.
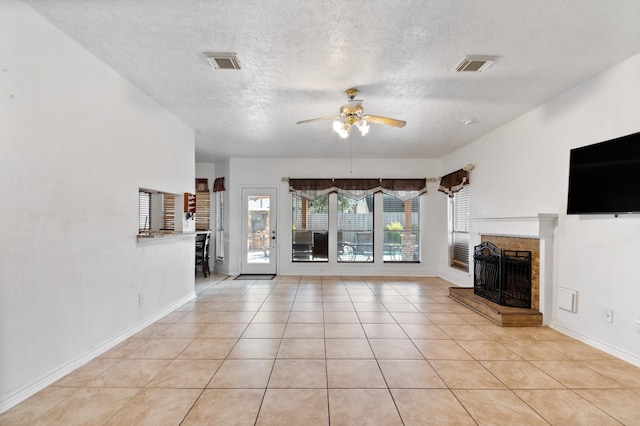
[[[307,200],[337,192],[360,200],[376,192],[406,201],[427,192],[427,179],[289,179],[289,190]]]

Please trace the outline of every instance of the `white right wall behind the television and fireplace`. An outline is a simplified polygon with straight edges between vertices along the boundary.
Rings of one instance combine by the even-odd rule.
[[[472,217],[559,214],[554,307],[557,288],[567,287],[579,293],[578,312],[556,307],[552,325],[640,365],[640,215],[565,214],[569,150],[637,131],[640,55],[459,149],[443,166],[476,165]],[[458,283],[472,285],[468,277]],[[613,324],[604,321],[605,308],[614,310]]]

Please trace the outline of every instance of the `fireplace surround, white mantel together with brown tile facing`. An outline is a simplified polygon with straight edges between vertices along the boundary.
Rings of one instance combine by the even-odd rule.
[[[548,324],[553,312],[553,231],[558,215],[475,217],[470,222],[472,247],[491,241],[501,249],[532,252],[531,308],[539,310]]]

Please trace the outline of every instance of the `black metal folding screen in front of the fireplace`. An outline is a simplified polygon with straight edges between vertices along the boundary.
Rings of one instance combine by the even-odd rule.
[[[474,247],[473,292],[504,306],[531,309],[531,252]]]

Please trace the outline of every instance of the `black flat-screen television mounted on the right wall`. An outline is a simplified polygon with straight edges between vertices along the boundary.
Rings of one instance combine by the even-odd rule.
[[[571,150],[567,214],[640,212],[640,132]]]

